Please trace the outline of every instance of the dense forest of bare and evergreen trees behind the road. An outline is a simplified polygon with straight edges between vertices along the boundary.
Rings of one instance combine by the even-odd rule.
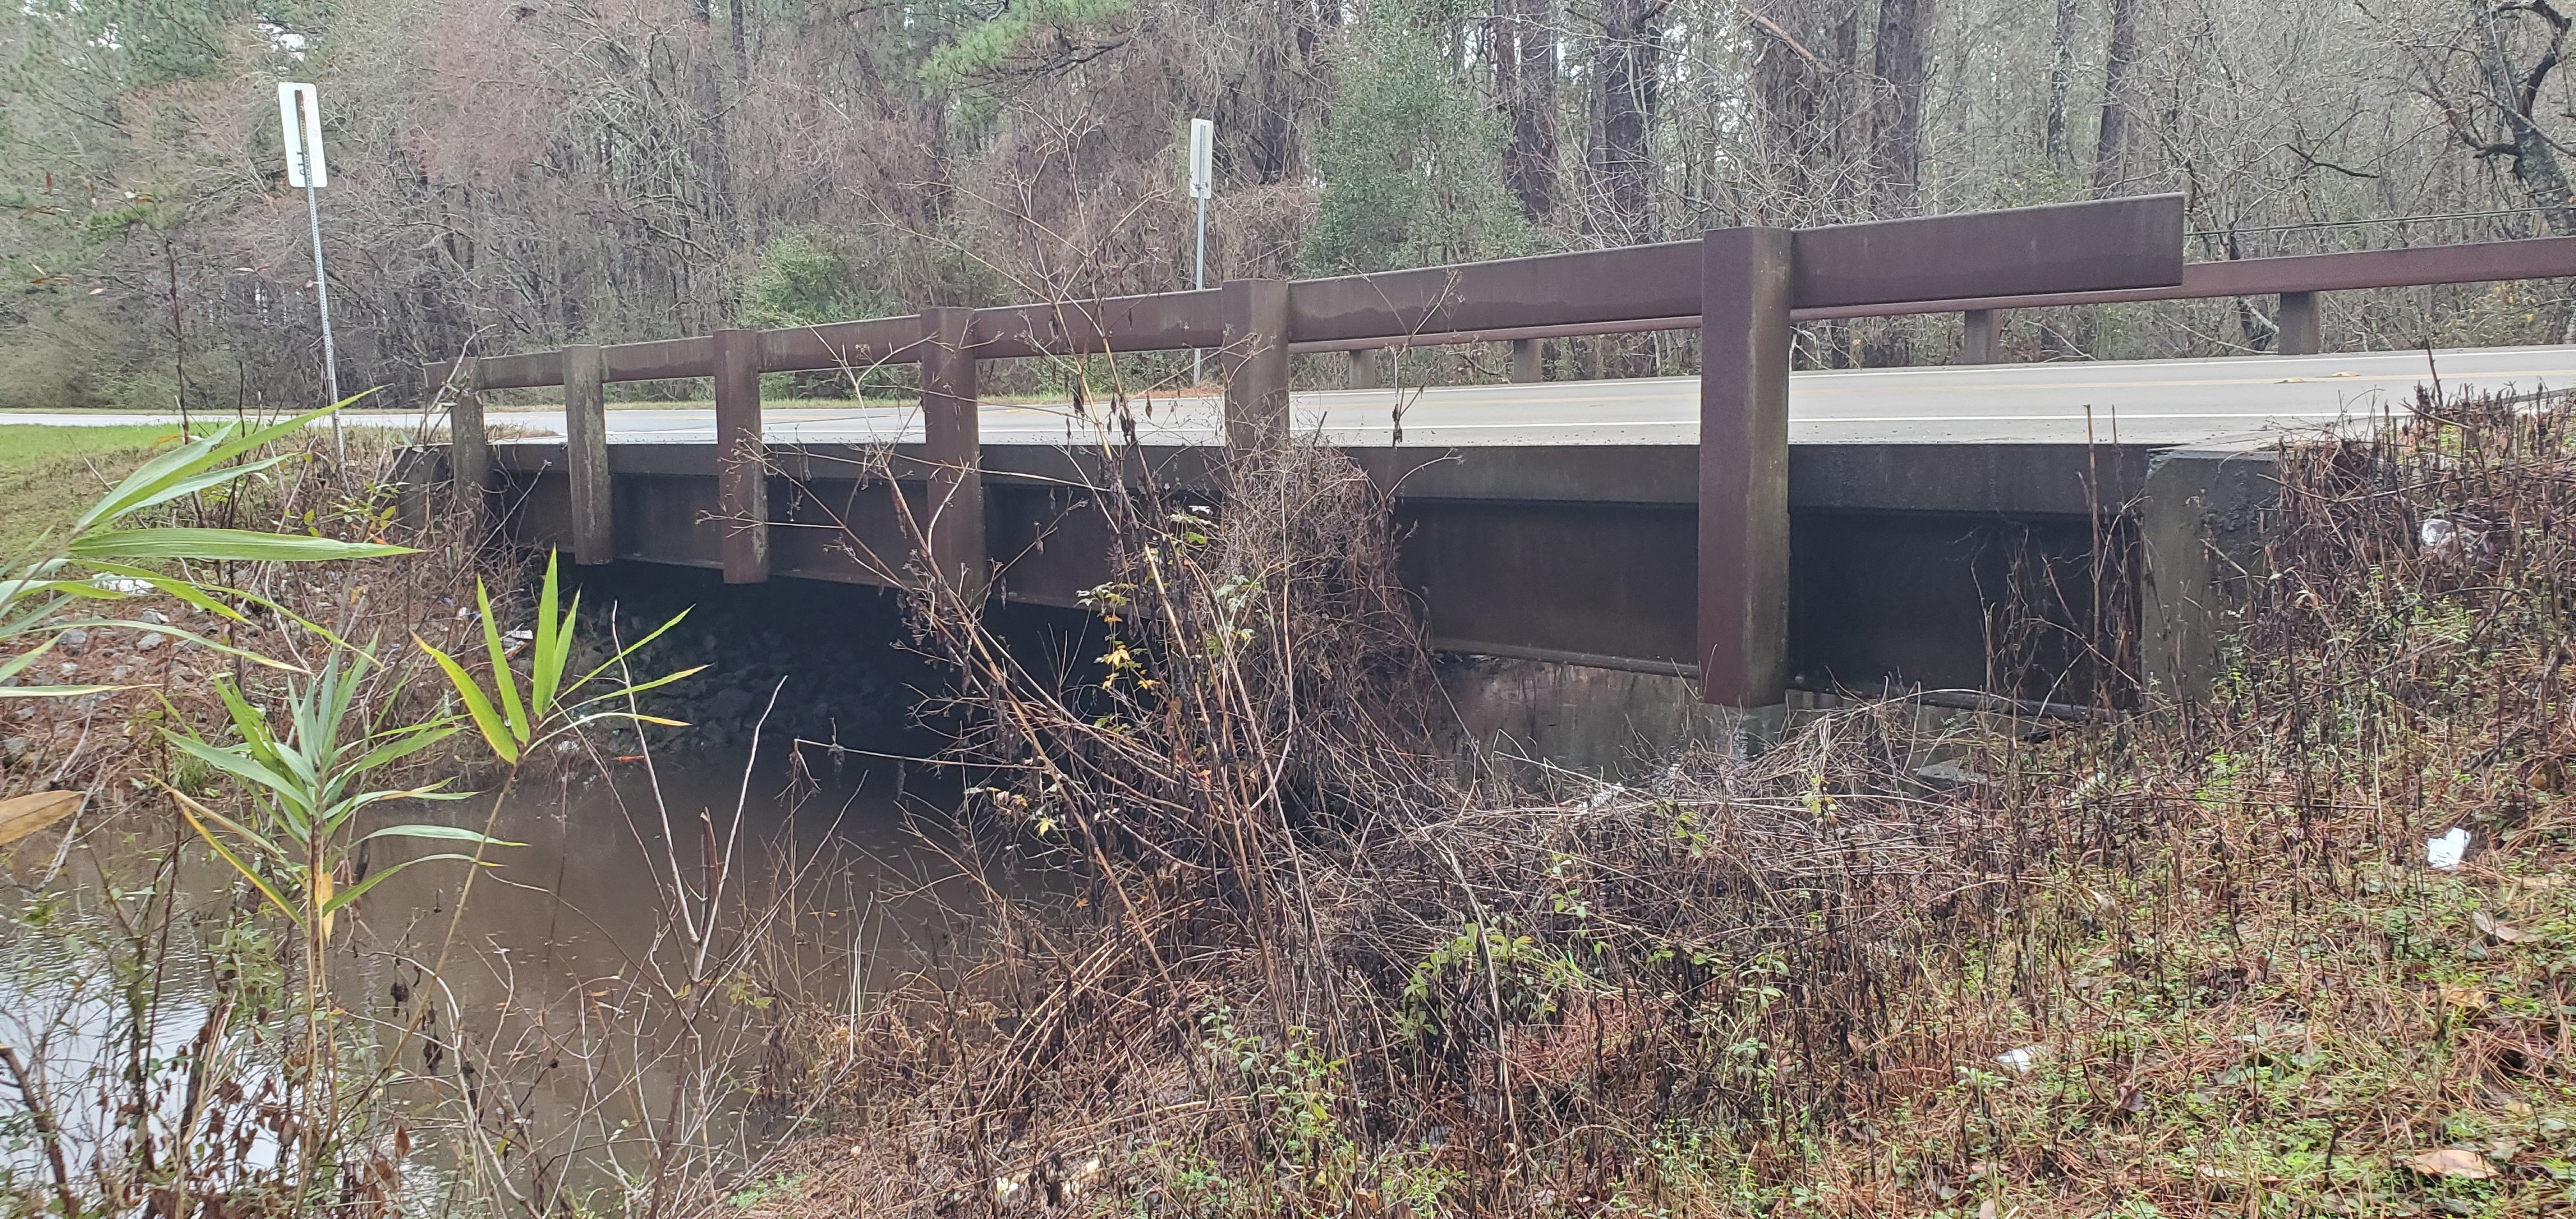
[[[276,80],[322,88],[343,384],[407,392],[459,350],[1188,286],[1190,116],[1211,283],[2141,191],[2190,196],[2195,258],[2563,235],[2566,36],[2550,0],[21,0],[0,407],[319,394]],[[2329,343],[2568,325],[2555,283],[2344,294]],[[2269,327],[2066,309],[2007,348]]]

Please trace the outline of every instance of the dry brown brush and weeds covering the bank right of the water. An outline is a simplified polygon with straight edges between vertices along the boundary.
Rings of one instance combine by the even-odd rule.
[[[837,1129],[739,1209],[2563,1206],[2571,425],[2427,399],[2282,451],[2208,701],[1868,704],[1535,791],[1435,760],[1363,474],[1103,490],[1105,675],[917,572],[979,807],[1079,892],[1005,912],[979,1000],[853,1028]]]

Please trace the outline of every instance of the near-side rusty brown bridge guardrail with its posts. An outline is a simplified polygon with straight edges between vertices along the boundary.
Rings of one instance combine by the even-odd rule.
[[[922,363],[933,469],[933,580],[979,595],[984,358],[1218,348],[1229,448],[1288,436],[1288,356],[1314,343],[1419,343],[1440,327],[1700,327],[1698,647],[1703,698],[1762,706],[1788,683],[1788,338],[1801,309],[1911,309],[2187,286],[2182,196],[2112,198],[1821,229],[1713,229],[1698,242],[1468,263],[1455,268],[1231,281],[1216,291],[930,309],[793,330],[726,330],[430,366],[453,392],[456,472],[487,485],[482,392],[564,387],[577,562],[616,557],[605,454],[608,381],[714,376],[724,577],[768,577],[768,454],[760,374]],[[1484,330],[1476,330],[1484,327]],[[1502,642],[1510,644],[1510,642]]]

